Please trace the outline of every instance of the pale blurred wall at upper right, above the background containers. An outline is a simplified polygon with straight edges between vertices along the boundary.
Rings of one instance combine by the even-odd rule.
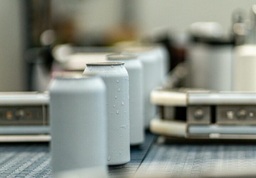
[[[227,32],[231,28],[231,14],[236,8],[248,16],[256,0],[137,0],[137,23],[141,33],[156,27],[168,27],[184,32],[193,22],[216,21]]]

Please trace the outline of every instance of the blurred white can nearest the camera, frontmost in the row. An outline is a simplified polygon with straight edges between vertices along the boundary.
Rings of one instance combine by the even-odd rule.
[[[106,85],[100,77],[55,76],[50,87],[53,177],[107,176],[106,115]]]

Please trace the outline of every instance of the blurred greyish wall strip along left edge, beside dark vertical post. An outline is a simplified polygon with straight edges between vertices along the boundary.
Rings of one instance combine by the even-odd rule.
[[[23,91],[27,82],[21,2],[0,0],[0,91]]]

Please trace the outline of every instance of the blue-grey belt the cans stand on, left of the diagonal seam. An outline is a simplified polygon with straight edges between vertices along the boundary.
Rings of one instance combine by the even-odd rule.
[[[110,177],[132,176],[156,136],[146,134],[145,144],[132,147],[131,161],[122,168],[110,169]],[[47,143],[0,144],[0,177],[52,177]]]

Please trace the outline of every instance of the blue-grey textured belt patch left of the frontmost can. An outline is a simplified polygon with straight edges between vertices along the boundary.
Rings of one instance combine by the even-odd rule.
[[[0,177],[51,177],[48,144],[0,144]]]

